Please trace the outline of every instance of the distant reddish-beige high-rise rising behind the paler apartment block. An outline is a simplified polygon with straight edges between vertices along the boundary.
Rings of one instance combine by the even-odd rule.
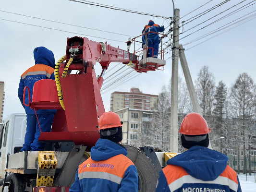
[[[139,88],[131,88],[130,92],[115,91],[110,97],[110,111],[122,108],[150,110],[158,103],[157,95],[142,93]]]

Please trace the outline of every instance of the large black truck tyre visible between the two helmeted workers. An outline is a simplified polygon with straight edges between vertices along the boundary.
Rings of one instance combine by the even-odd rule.
[[[139,175],[139,192],[155,192],[158,180],[156,167],[146,153],[136,147],[124,145],[127,148],[127,157],[133,161]]]

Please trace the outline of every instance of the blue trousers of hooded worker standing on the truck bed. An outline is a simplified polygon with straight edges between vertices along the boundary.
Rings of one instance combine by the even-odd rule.
[[[55,113],[37,114],[42,132],[50,132],[54,115]],[[45,147],[45,143],[38,141],[41,132],[37,117],[36,114],[27,115],[27,129],[21,151],[42,151]]]

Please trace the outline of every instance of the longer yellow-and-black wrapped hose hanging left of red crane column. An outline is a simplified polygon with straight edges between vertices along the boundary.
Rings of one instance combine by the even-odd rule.
[[[61,59],[59,59],[58,62],[56,63],[56,66],[54,69],[54,77],[55,77],[55,82],[56,82],[56,86],[57,86],[59,101],[61,103],[61,107],[65,110],[62,89],[61,89],[61,80],[60,80],[60,65],[64,60],[66,60],[65,55],[63,57],[61,57]]]

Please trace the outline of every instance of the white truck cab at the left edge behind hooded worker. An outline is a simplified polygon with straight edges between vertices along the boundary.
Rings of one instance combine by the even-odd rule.
[[[26,133],[26,114],[13,113],[0,126],[0,178],[5,176],[8,154],[20,152]],[[0,190],[2,186],[0,187]],[[4,189],[8,191],[8,186]]]

